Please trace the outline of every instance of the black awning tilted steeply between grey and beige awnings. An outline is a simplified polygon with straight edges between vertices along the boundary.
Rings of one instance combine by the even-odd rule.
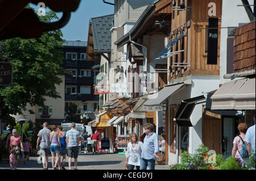
[[[201,104],[205,101],[206,100],[204,95],[200,95],[191,99],[182,100],[179,110],[177,110],[177,113],[174,116],[174,121],[176,121],[179,127],[193,127],[189,117],[191,116],[196,104]]]

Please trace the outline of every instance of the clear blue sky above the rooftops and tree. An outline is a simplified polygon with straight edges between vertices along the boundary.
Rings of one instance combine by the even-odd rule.
[[[114,1],[107,0],[106,2],[113,3]],[[33,7],[35,10],[39,9],[37,6]],[[46,11],[48,10],[47,8]],[[106,4],[102,0],[81,0],[78,9],[71,13],[68,24],[61,28],[63,39],[87,41],[90,18],[109,14],[114,14],[113,5]],[[62,12],[57,13],[57,15],[61,18]]]

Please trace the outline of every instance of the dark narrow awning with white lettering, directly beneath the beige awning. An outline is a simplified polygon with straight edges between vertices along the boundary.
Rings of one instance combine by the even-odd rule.
[[[215,92],[215,91],[214,91]],[[207,102],[205,103],[205,110],[223,116],[245,116],[245,110],[211,110],[212,99],[210,98],[214,92],[210,92],[207,95]]]

